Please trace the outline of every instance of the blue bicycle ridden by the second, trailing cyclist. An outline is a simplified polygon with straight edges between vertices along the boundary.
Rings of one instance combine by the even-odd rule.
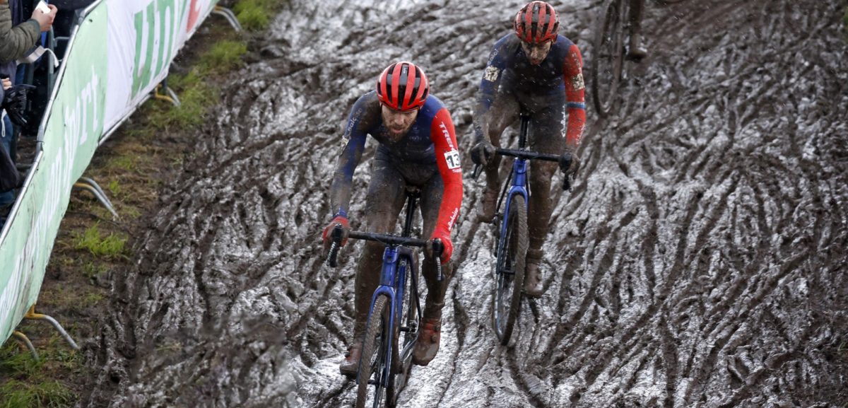
[[[538,159],[559,162],[562,168],[571,165],[571,154],[542,154],[527,150],[527,128],[530,115],[522,112],[521,127],[518,133],[518,149],[496,148],[495,154],[511,156],[510,176],[501,190],[498,206],[494,215],[495,231],[498,239],[495,246],[497,260],[494,265],[495,288],[492,298],[492,328],[500,344],[510,343],[512,328],[521,311],[522,289],[524,288],[524,262],[527,258],[527,160]],[[474,166],[473,177],[477,179],[482,167]],[[563,190],[570,190],[571,183],[565,177]],[[500,205],[505,204],[500,212]]]

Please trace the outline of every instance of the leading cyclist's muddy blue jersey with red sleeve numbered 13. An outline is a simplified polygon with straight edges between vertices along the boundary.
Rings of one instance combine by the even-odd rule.
[[[436,229],[449,233],[456,222],[462,201],[460,154],[456,149],[454,123],[442,101],[430,95],[410,130],[394,140],[383,126],[380,100],[371,91],[359,98],[350,110],[344,130],[342,154],[330,189],[334,215],[347,216],[354,170],[360,164],[365,137],[377,140],[377,154],[396,165],[431,166],[442,176],[444,194]]]

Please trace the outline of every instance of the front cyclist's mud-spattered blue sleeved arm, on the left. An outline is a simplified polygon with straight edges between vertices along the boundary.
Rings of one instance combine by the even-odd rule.
[[[368,109],[365,109],[365,97],[360,98],[350,109],[348,124],[342,137],[342,151],[338,155],[336,173],[332,177],[330,187],[330,209],[332,216],[348,216],[350,206],[350,187],[354,180],[354,170],[360,164],[362,151],[365,149],[366,132],[361,129],[362,120]]]

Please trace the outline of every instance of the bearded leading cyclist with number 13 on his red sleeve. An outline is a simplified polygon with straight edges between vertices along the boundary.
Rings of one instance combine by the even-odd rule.
[[[442,282],[436,278],[432,247],[425,251],[423,274],[427,281],[427,303],[413,362],[427,366],[438,352],[444,293],[451,276],[449,260],[453,245],[450,232],[462,201],[462,172],[454,125],[444,104],[429,94],[424,71],[409,62],[391,64],[383,70],[377,90],[365,93],[350,110],[330,189],[333,215],[324,229],[325,245],[333,226],[341,224],[349,228],[351,182],[365,148],[365,136],[369,134],[379,146],[365,198],[365,230],[393,232],[404,206],[405,187],[416,186],[421,189],[423,232],[430,237],[431,243],[439,239],[444,244]],[[382,252],[380,243],[365,243],[356,270],[354,342],[339,367],[347,376],[356,375],[371,294],[380,278]]]

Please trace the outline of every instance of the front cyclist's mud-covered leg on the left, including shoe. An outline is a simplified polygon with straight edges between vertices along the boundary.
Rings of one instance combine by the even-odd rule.
[[[378,153],[371,168],[371,183],[365,198],[365,231],[385,233],[394,230],[398,214],[404,206],[404,187],[405,182],[399,171]],[[349,355],[340,367],[346,375],[356,374],[371,297],[380,282],[383,249],[385,247],[380,243],[366,242],[356,268],[354,340]]]

